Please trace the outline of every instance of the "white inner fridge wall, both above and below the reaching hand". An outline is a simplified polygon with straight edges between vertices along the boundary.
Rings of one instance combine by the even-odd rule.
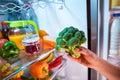
[[[63,4],[39,2],[34,3],[33,8],[39,29],[50,36],[56,38],[63,28],[69,26],[83,30],[87,36],[86,0],[65,0]],[[83,46],[87,47],[87,43]],[[66,68],[59,75],[64,77],[62,80],[88,80],[88,68],[68,59]]]

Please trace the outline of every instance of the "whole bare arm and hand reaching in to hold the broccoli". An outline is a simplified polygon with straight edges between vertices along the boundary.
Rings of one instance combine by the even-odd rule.
[[[97,57],[92,51],[84,47],[77,48],[75,51],[78,54],[81,54],[81,57],[76,59],[69,56],[69,58],[89,68],[95,69],[100,74],[107,77],[109,80],[120,80],[119,67],[116,67],[107,61]]]

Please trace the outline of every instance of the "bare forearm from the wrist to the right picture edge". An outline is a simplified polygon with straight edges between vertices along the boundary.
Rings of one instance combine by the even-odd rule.
[[[120,80],[120,68],[103,59],[98,58],[93,69],[107,77],[109,80]]]

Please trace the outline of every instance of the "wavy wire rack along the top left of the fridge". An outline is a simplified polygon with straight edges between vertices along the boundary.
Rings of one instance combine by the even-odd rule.
[[[48,4],[51,3],[65,5],[65,0],[37,0],[37,1],[24,0],[22,4],[17,4],[15,2],[8,2],[5,4],[0,4],[0,12],[1,13],[22,12],[32,7],[33,4],[37,5],[37,7],[45,8],[47,7]]]

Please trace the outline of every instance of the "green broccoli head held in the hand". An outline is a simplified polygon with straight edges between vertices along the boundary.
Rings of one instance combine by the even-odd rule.
[[[86,42],[85,33],[73,26],[64,28],[56,38],[56,50],[65,50],[74,58],[79,58],[74,49]]]

